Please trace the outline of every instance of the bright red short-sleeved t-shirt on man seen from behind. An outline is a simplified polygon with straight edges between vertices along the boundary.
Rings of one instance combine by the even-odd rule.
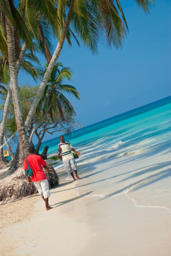
[[[43,172],[42,166],[45,166],[47,163],[43,160],[41,156],[37,156],[34,154],[28,155],[27,156],[27,161],[28,164],[30,165],[30,168],[33,171],[33,175],[31,177],[32,181],[40,181],[40,180],[45,180],[46,174]],[[26,158],[24,159],[24,170],[27,170],[27,162]]]

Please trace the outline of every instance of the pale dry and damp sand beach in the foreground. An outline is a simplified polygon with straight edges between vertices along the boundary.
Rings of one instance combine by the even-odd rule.
[[[66,177],[62,173],[60,185],[51,189],[48,212],[38,195],[0,206],[0,255],[170,255],[167,209],[136,207],[126,194],[93,196],[93,186],[79,196],[75,187],[91,177],[76,182]]]

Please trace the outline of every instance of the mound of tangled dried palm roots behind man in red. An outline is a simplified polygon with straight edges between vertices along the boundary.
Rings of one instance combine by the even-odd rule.
[[[59,185],[59,178],[54,168],[48,164],[49,173],[46,173],[49,188]],[[0,201],[20,199],[25,196],[33,195],[37,189],[33,182],[28,182],[22,168],[17,169],[11,175],[0,181]]]

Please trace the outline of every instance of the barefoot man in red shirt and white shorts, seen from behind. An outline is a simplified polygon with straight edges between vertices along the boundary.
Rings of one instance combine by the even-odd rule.
[[[48,198],[51,195],[49,190],[49,184],[48,180],[46,178],[46,174],[43,172],[44,167],[45,171],[48,173],[48,167],[46,165],[46,162],[43,160],[41,156],[35,155],[35,148],[33,146],[30,146],[29,149],[29,155],[27,156],[27,161],[30,166],[30,168],[33,171],[32,177],[28,177],[29,182],[34,182],[40,196],[42,196],[43,200],[46,204],[46,211],[51,210],[52,207],[48,204]],[[26,158],[24,159],[24,170],[28,169]]]

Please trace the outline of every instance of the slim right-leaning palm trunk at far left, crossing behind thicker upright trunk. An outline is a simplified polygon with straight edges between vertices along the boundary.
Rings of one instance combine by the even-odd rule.
[[[20,55],[19,55],[19,60],[17,61],[17,64],[16,64],[16,74],[17,74],[17,76],[18,76],[18,73],[19,73],[19,69],[21,67],[21,60],[24,57],[26,49],[27,49],[26,44],[24,43],[22,48],[21,48],[21,52],[20,52]],[[5,100],[4,110],[3,110],[3,114],[2,114],[2,118],[1,118],[1,123],[0,123],[0,146],[2,146],[3,143],[4,143],[5,125],[6,125],[8,112],[9,112],[9,108],[10,108],[11,97],[12,97],[12,83],[10,84],[10,88],[8,90],[8,94],[7,94],[7,97],[6,97],[6,100]],[[2,161],[3,161],[3,148],[0,150],[0,162],[2,162]]]

